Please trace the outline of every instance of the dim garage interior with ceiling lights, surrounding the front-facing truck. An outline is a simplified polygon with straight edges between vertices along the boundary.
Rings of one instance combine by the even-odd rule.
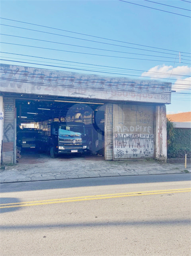
[[[104,156],[104,115],[102,102],[85,102],[82,99],[47,99],[37,96],[15,100],[17,112],[17,162],[25,163],[28,159],[49,155],[40,148],[40,135],[49,135],[51,122],[80,122],[85,125],[87,137],[87,156]],[[40,99],[39,99],[40,98]],[[24,138],[24,139],[22,139]],[[23,143],[24,142],[24,143]],[[50,155],[49,155],[50,156]],[[70,154],[59,157],[77,157]],[[79,156],[78,156],[79,157]]]

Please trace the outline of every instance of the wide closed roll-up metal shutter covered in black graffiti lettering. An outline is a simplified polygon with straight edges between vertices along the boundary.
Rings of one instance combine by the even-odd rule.
[[[154,106],[114,104],[114,160],[154,157]]]

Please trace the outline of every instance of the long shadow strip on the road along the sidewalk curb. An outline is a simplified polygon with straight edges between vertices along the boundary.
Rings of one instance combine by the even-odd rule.
[[[139,183],[155,183],[155,182],[175,182],[175,181],[190,181],[190,173],[182,174],[159,174],[159,175],[137,175],[137,176],[117,176],[117,177],[99,177],[99,178],[76,178],[62,180],[47,180],[47,181],[31,181],[31,182],[16,182],[2,183],[0,192],[16,192],[30,191],[42,189],[64,189],[78,188],[90,186],[107,186],[121,184],[139,184]]]

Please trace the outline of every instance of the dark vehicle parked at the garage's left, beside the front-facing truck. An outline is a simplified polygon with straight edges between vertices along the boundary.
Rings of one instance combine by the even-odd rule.
[[[37,148],[38,129],[24,128],[17,132],[17,146],[23,148]]]

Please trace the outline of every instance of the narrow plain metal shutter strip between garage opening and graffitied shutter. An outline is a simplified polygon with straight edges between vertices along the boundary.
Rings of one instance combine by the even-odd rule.
[[[113,104],[107,104],[105,108],[105,160],[113,159]]]

